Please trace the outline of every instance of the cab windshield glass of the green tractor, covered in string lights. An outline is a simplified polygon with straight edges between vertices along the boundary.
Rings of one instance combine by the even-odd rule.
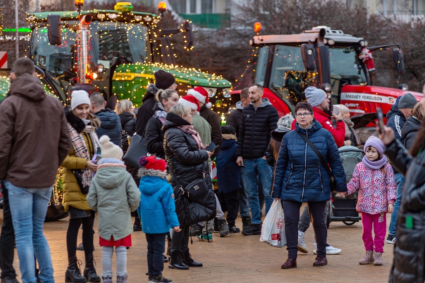
[[[61,45],[50,45],[46,26],[36,26],[31,37],[30,58],[45,73],[54,92],[61,97],[70,90],[71,79],[77,77],[77,32],[79,21],[62,26]],[[104,72],[113,72],[119,64],[151,63],[148,27],[138,23],[93,21],[89,25],[89,55],[92,71],[102,64]],[[103,76],[108,78],[109,76]],[[102,84],[103,81],[97,81]],[[104,82],[107,85],[107,82]]]

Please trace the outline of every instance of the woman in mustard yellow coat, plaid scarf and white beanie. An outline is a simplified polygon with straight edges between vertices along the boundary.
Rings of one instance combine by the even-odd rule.
[[[95,129],[100,121],[90,113],[90,99],[85,91],[74,91],[71,107],[65,107],[72,147],[62,163],[65,210],[70,220],[67,231],[68,269],[65,282],[100,282],[93,266],[93,223],[94,211],[85,200],[93,172],[97,165],[92,158],[100,146]],[[76,177],[77,176],[77,177]],[[78,180],[78,181],[77,181]],[[85,252],[84,277],[77,266],[77,236],[83,225],[83,246]]]

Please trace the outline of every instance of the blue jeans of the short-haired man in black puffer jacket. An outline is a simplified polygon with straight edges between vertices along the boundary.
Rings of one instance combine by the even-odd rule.
[[[258,177],[261,179],[262,191],[265,198],[265,215],[270,209],[273,198],[270,196],[272,169],[262,158],[244,160],[245,190],[251,208],[251,223],[260,224],[260,205],[258,200]]]

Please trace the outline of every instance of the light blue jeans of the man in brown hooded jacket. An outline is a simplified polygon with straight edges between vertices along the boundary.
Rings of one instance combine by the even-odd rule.
[[[34,273],[34,254],[40,268],[40,281],[54,283],[50,248],[43,234],[43,224],[52,187],[26,189],[16,187],[7,180],[4,181],[4,185],[9,193],[22,283],[37,282]]]

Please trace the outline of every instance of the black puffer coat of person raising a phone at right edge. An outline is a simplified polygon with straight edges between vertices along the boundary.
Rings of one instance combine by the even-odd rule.
[[[425,152],[412,158],[399,140],[387,146],[385,154],[405,178],[397,217],[390,283],[425,281]],[[413,224],[413,225],[411,225]]]

